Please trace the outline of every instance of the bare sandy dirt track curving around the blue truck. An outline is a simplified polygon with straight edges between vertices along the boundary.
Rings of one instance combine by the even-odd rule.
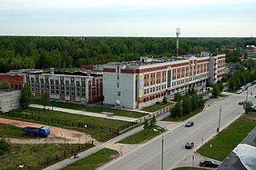
[[[12,119],[5,119],[0,118],[0,123],[2,124],[8,124],[8,125],[15,125],[18,127],[25,127],[25,126],[35,126],[35,127],[41,127],[41,126],[47,126],[51,130],[51,135],[48,135],[46,138],[38,137],[36,139],[16,139],[16,138],[10,138],[11,143],[15,144],[43,144],[43,143],[64,143],[65,142],[65,136],[66,136],[66,142],[67,144],[84,144],[87,142],[94,141],[94,145],[100,145],[100,143],[92,138],[90,135],[86,135],[84,133],[80,133],[77,131],[67,130],[55,126],[50,125],[41,125],[36,123],[30,123],[30,122],[23,122],[18,120],[12,120]]]

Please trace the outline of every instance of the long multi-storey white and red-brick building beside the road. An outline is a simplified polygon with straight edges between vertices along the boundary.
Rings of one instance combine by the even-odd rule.
[[[134,109],[192,87],[203,92],[207,82],[215,84],[223,77],[225,56],[203,52],[178,58],[142,56],[140,61],[108,63],[103,65],[104,104]]]

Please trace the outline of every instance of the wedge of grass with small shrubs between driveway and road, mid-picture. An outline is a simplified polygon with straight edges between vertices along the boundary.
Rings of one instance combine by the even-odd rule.
[[[147,142],[148,140],[152,139],[153,137],[160,135],[165,130],[161,127],[157,127],[159,131],[154,131],[154,129],[149,129],[148,132],[143,129],[142,131],[138,132],[137,134],[130,135],[120,141],[118,143],[121,144],[141,144]]]

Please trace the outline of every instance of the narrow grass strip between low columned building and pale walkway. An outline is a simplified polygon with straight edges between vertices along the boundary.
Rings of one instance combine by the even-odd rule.
[[[37,104],[37,105],[43,105],[41,100],[33,100],[33,103]],[[100,106],[68,104],[68,103],[62,103],[62,102],[51,102],[50,106],[70,108],[70,109],[75,109],[75,110],[84,110],[87,112],[94,112],[94,113],[109,112],[109,113],[114,113],[114,115],[134,117],[134,118],[143,117],[143,116],[147,115],[144,113],[132,112],[132,111],[128,111],[128,110],[118,110],[118,109],[113,109],[113,108],[108,108],[108,107],[100,107]]]

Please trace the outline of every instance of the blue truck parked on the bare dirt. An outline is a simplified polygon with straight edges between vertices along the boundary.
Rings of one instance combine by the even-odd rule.
[[[26,132],[29,135],[39,135],[41,137],[47,137],[50,135],[51,131],[49,130],[49,127],[31,127],[26,126],[21,129],[22,131]]]

